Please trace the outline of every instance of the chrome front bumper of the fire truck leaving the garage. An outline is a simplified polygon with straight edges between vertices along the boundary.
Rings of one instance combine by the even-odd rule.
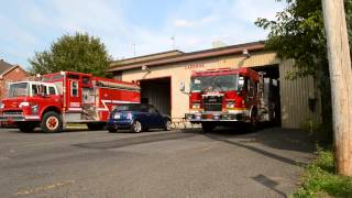
[[[250,112],[241,110],[237,112],[202,112],[202,113],[186,113],[186,119],[191,123],[201,122],[250,122]]]

